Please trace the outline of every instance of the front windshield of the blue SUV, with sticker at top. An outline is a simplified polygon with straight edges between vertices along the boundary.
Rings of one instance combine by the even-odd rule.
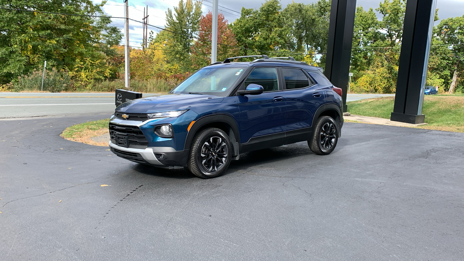
[[[171,93],[212,94],[226,97],[246,67],[205,68],[177,85]]]

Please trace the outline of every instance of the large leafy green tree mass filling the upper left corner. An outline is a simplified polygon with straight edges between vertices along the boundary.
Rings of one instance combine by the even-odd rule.
[[[0,84],[40,69],[44,60],[59,70],[79,71],[83,63],[98,66],[85,72],[108,77],[109,72],[101,66],[106,65],[106,53],[112,52],[110,46],[119,43],[122,34],[109,26],[110,17],[92,17],[105,16],[103,4],[90,0],[0,0],[1,7],[26,10],[0,9]]]

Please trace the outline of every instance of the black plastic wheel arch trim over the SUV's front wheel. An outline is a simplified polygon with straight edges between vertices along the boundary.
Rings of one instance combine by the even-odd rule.
[[[207,124],[213,124],[213,123],[225,123],[231,127],[233,136],[231,136],[231,133],[226,132],[226,134],[230,138],[230,143],[234,151],[233,155],[237,156],[238,155],[237,144],[240,144],[240,132],[238,131],[238,124],[232,116],[226,113],[210,114],[210,115],[206,115],[206,116],[203,116],[197,119],[193,123],[192,127],[190,127],[190,131],[188,131],[187,133],[187,138],[185,139],[184,150],[190,149],[190,145],[192,144],[193,137],[199,130],[201,130]]]

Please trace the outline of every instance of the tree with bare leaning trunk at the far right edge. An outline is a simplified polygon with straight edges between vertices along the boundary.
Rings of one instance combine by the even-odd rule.
[[[459,74],[463,72],[464,65],[464,15],[441,20],[437,26],[437,38],[447,47],[450,56],[448,61],[452,72],[449,93],[452,93],[458,83]]]

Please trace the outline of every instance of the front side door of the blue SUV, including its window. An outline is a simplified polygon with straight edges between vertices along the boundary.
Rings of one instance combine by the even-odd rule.
[[[256,67],[240,89],[250,84],[261,85],[264,92],[258,95],[238,95],[240,140],[242,143],[262,144],[277,142],[285,137],[285,96],[279,84],[278,68]],[[282,145],[282,144],[280,144]],[[256,149],[253,148],[253,149]],[[245,149],[243,151],[246,151]],[[249,150],[248,150],[249,151]]]

